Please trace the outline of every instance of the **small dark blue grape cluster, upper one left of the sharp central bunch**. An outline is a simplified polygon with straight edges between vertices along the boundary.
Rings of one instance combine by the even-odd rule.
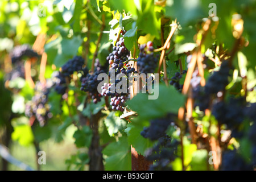
[[[83,65],[84,65],[84,59],[82,59],[81,56],[75,56],[71,60],[68,60],[68,62],[65,63],[63,67],[61,67],[61,73],[64,76],[69,77],[74,72],[82,71]]]

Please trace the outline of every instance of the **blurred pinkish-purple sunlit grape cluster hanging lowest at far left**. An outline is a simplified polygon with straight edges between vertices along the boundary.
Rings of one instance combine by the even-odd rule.
[[[49,89],[52,87],[52,82],[47,82],[46,85],[41,82],[36,82],[35,96],[27,102],[25,114],[27,117],[34,116],[40,126],[44,126],[49,118],[52,118],[50,105],[48,102]]]

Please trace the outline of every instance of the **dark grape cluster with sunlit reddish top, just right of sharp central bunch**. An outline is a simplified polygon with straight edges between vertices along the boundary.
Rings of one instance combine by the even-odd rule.
[[[154,73],[158,64],[158,56],[155,56],[153,51],[153,43],[147,42],[139,47],[139,57],[137,59],[137,65],[139,72],[144,74]]]

